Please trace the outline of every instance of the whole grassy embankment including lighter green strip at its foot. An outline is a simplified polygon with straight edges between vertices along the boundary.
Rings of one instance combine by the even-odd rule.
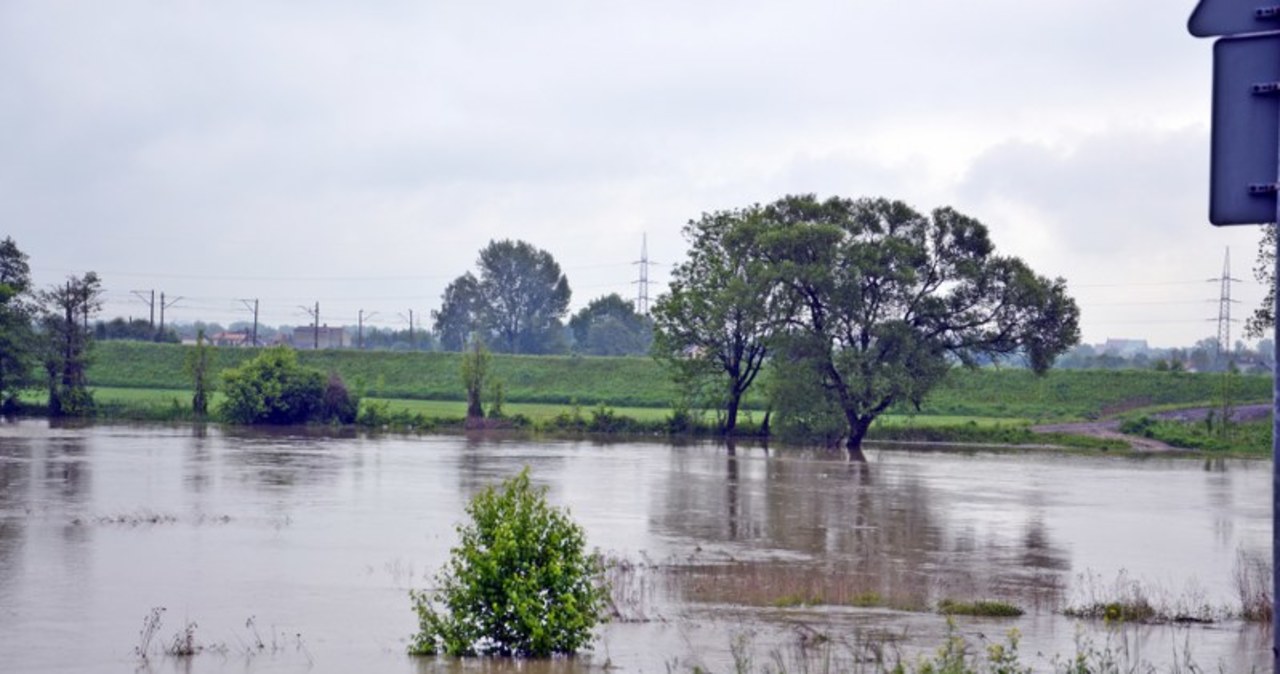
[[[97,344],[90,381],[104,413],[180,418],[189,402],[187,352],[173,344]],[[239,364],[253,353],[218,349],[216,370]],[[339,373],[364,394],[366,404],[380,402],[385,412],[402,418],[458,419],[463,414],[460,354],[325,350],[298,357],[302,364]],[[493,375],[504,389],[504,412],[535,425],[564,422],[575,414],[589,422],[603,412],[659,428],[677,396],[650,358],[494,354]],[[1220,386],[1221,375],[1187,372],[1073,370],[1036,377],[1021,370],[957,370],[920,411],[901,408],[886,416],[873,439],[1037,441],[1028,428],[1032,423],[1169,405],[1212,407],[1219,404]],[[1236,403],[1265,402],[1271,380],[1239,376],[1233,391]],[[745,425],[763,418],[763,404],[758,393],[748,399]]]

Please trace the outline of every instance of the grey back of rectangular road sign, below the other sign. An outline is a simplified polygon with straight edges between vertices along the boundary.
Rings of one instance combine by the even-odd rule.
[[[1219,40],[1213,43],[1210,223],[1275,221],[1277,147],[1280,33]]]

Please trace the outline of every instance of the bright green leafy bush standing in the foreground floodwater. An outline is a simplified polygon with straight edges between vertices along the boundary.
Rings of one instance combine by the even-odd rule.
[[[410,593],[410,652],[547,657],[586,647],[608,592],[582,528],[530,486],[527,468],[477,494],[467,514],[436,590]]]

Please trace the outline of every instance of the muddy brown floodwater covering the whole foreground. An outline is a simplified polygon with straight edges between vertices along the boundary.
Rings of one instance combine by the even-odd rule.
[[[1270,550],[1267,462],[1119,459],[215,427],[0,423],[0,670],[508,669],[404,655],[410,588],[429,587],[471,495],[527,466],[593,547],[626,560],[623,618],[588,657],[522,671],[732,669],[815,634],[932,650],[940,599],[997,597],[1038,669],[1075,639],[1228,671],[1270,666],[1266,628],[1116,633],[1064,618],[1125,581],[1196,611],[1238,606],[1239,555]],[[895,607],[777,607],[863,596]],[[143,620],[164,607],[142,660]],[[192,623],[191,657],[163,647]],[[1037,655],[1041,654],[1041,655]]]

